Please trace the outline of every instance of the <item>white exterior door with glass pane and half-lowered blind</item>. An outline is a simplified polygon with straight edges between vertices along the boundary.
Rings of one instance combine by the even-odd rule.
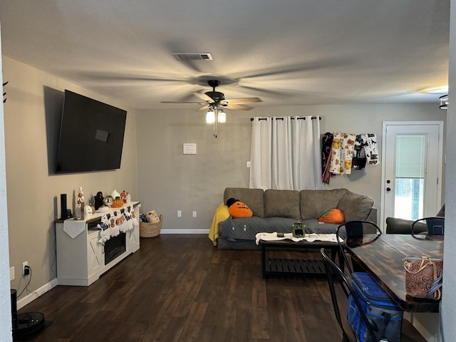
[[[386,217],[419,219],[440,209],[442,121],[384,122],[382,209]]]

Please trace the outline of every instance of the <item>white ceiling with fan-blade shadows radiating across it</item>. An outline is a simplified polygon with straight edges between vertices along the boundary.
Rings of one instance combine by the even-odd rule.
[[[0,0],[2,53],[133,108],[432,102],[450,0]],[[211,53],[181,62],[172,53]],[[11,83],[14,80],[9,80]]]

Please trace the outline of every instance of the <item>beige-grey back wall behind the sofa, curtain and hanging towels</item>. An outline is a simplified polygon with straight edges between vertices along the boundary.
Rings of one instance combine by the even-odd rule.
[[[162,229],[209,229],[225,187],[248,187],[250,118],[320,115],[321,133],[375,133],[381,155],[383,121],[446,120],[439,103],[410,105],[316,105],[227,111],[227,123],[205,123],[202,110],[138,110],[138,184],[142,209],[163,214]],[[183,155],[182,144],[197,143],[197,155]],[[445,148],[444,148],[445,150]],[[380,160],[381,162],[381,160]],[[346,187],[369,195],[380,209],[381,165],[331,179],[328,188]],[[182,210],[182,217],[177,217]],[[197,210],[198,217],[192,217]]]

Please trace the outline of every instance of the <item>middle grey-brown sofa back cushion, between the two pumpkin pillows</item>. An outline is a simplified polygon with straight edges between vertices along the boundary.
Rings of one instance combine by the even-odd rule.
[[[264,192],[264,217],[300,219],[299,191],[271,190]]]

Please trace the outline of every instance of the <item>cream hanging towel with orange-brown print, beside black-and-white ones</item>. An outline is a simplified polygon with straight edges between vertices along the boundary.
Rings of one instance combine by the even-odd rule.
[[[336,175],[351,175],[355,140],[356,135],[352,133],[334,134],[329,172]]]

